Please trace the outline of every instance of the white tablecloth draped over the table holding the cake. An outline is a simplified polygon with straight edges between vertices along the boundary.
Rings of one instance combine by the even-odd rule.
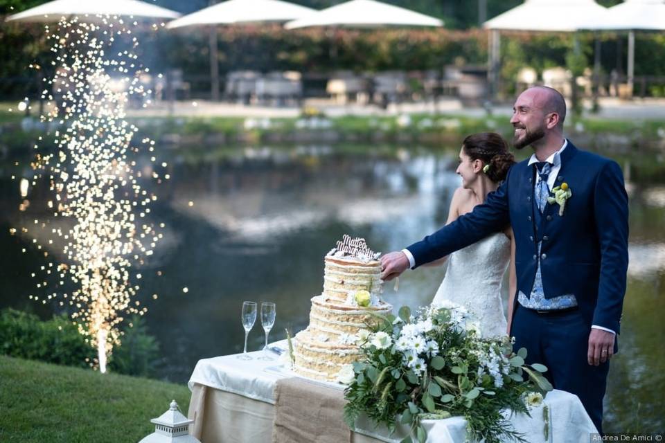
[[[271,347],[286,347],[285,341]],[[272,354],[272,352],[271,352]],[[249,352],[251,360],[238,359],[237,354],[199,360],[188,386],[192,391],[188,417],[194,420],[190,434],[202,443],[272,442],[277,381],[298,377],[280,361],[258,359],[263,351]],[[344,385],[299,378],[303,386],[344,390]],[[576,395],[562,390],[548,392],[540,406],[533,406],[531,417],[508,413],[515,431],[529,442],[588,443],[597,433],[594,424]],[[463,443],[466,421],[462,417],[422,420],[427,443]],[[398,443],[408,434],[407,426],[398,425],[390,435],[384,426],[375,426],[369,419],[358,419],[351,432],[353,443]],[[305,443],[305,442],[303,442]]]

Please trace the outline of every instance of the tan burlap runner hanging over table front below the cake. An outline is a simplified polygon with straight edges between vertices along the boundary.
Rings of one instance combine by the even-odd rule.
[[[301,378],[275,384],[273,443],[344,443],[351,441],[342,413],[344,391]]]

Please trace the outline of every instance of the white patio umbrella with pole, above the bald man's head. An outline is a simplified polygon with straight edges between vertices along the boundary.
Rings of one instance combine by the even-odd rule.
[[[520,6],[486,21],[490,33],[490,80],[497,80],[501,30],[571,33],[592,29],[608,17],[608,8],[595,0],[525,0]],[[597,49],[597,47],[596,47]],[[596,51],[596,56],[599,51]]]

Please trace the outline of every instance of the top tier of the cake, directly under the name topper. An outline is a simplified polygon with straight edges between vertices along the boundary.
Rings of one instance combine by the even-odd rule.
[[[326,255],[323,269],[323,295],[344,301],[348,293],[365,290],[379,296],[382,288],[381,262],[362,262],[354,257]]]

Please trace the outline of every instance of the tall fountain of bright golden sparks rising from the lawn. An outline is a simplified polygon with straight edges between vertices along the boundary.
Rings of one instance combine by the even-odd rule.
[[[151,93],[139,82],[148,69],[137,62],[138,39],[130,24],[119,17],[98,16],[94,23],[73,17],[61,19],[55,29],[45,28],[55,56],[55,75],[45,80],[48,87],[42,98],[55,106],[42,121],[57,130],[52,134],[53,145],[36,155],[32,185],[48,179],[55,197],[55,202],[48,201],[48,208],[53,217],[69,221],[70,228],[51,228],[53,236],[60,237],[56,244],[62,245],[55,287],[64,287],[69,278],[75,289],[70,294],[55,291],[42,302],[61,298],[60,305],[69,305],[71,319],[98,350],[98,368],[105,372],[107,355],[120,343],[118,325],[123,316],[146,311],[134,300],[141,275],[132,272],[132,265],[152,255],[161,238],[146,221],[157,196],[143,189],[141,181],[161,183],[168,175],[161,177],[151,165],[149,177],[143,177],[132,160],[140,150],[148,150],[152,163],[156,161],[154,141],[143,138],[133,143],[137,128],[125,120],[130,98],[147,104]],[[118,50],[121,40],[131,41],[130,49]],[[46,144],[42,137],[40,140]],[[35,145],[35,149],[41,148]],[[21,181],[21,192],[24,188]],[[28,206],[26,200],[20,209]],[[39,226],[39,221],[35,224]],[[49,225],[50,217],[42,220],[44,229]],[[22,231],[28,233],[28,228],[24,226]],[[53,262],[46,273],[51,275],[52,268]],[[46,282],[37,287],[42,284]]]

